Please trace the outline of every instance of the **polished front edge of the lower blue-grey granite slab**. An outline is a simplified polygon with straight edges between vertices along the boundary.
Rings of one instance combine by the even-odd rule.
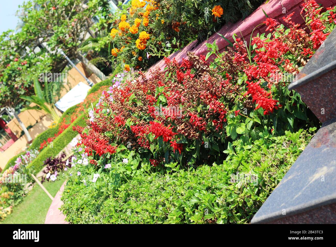
[[[253,217],[251,220],[251,224],[262,224],[270,221],[286,218],[288,216],[296,215],[299,213],[304,213],[310,211],[312,209],[316,209],[322,206],[326,206],[329,204],[336,203],[336,194],[328,197],[324,197],[323,199],[319,199],[318,201],[311,201],[309,203],[301,204],[296,207],[289,208],[286,210],[286,215],[283,215],[281,211],[277,211],[274,213],[262,215],[259,217]],[[260,210],[260,209],[259,209]]]

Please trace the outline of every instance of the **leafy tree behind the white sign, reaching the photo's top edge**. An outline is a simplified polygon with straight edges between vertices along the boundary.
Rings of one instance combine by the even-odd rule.
[[[86,64],[85,59],[77,51],[81,42],[90,34],[95,37],[96,30],[109,28],[109,4],[106,0],[91,0],[86,4],[83,0],[30,0],[22,6],[20,19],[23,22],[21,35],[22,45],[46,42],[56,51],[62,49],[70,59],[77,58]],[[93,19],[99,18],[97,23]],[[39,41],[39,42],[37,42]],[[64,58],[55,53],[58,59]],[[66,63],[67,64],[67,63]],[[62,71],[64,64],[57,65]]]

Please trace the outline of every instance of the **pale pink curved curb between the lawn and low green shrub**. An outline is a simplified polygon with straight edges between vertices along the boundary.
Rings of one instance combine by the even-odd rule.
[[[61,188],[59,189],[56,196],[54,197],[54,200],[52,201],[49,207],[47,216],[45,218],[45,221],[44,221],[45,224],[69,224],[69,222],[65,220],[65,215],[62,214],[62,212],[59,210],[59,208],[63,204],[61,201],[61,197],[62,197],[62,192],[64,190],[64,186],[66,182],[67,181],[65,181],[62,184]]]

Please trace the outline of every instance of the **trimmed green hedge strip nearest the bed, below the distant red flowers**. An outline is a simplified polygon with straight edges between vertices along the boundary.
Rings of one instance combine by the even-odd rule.
[[[64,149],[70,141],[78,134],[72,129],[73,126],[85,126],[84,115],[80,115],[66,130],[64,130],[59,136],[53,140],[53,147],[50,145],[44,148],[36,159],[28,166],[31,167],[33,172],[39,172],[43,167],[43,162],[49,157],[55,157],[58,153]]]

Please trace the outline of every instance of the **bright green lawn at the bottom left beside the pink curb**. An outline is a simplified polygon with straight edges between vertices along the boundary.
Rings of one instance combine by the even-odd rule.
[[[44,182],[43,186],[54,197],[63,180]],[[44,224],[45,216],[51,204],[51,199],[45,194],[38,184],[29,192],[26,198],[13,207],[13,213],[8,215],[1,224]]]

